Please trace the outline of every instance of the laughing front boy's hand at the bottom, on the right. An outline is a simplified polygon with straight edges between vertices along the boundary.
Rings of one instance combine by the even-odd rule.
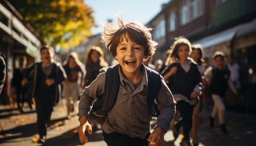
[[[165,135],[165,131],[160,128],[156,127],[155,130],[150,134],[147,141],[149,142],[149,146],[162,146],[163,145],[163,136]]]

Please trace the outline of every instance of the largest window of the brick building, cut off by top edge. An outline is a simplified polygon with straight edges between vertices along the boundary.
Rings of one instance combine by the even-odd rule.
[[[185,0],[180,7],[180,24],[183,26],[204,15],[204,0]]]

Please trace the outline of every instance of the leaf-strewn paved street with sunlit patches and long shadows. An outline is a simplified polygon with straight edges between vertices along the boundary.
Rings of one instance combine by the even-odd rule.
[[[47,145],[82,145],[79,142],[77,127],[79,121],[77,111],[73,116],[66,118],[65,101],[54,107],[52,122],[48,127]],[[34,107],[35,109],[35,107]],[[227,111],[226,121],[229,134],[223,134],[219,130],[218,122],[216,127],[210,130],[207,127],[207,119],[210,111],[203,109],[199,125],[200,146],[207,145],[256,145],[256,116]],[[36,114],[34,110],[24,108],[24,113],[13,109],[12,106],[0,106],[0,145],[40,145],[35,143],[37,139]],[[155,120],[152,120],[152,124]],[[101,130],[94,131],[88,136],[87,146],[105,146]],[[173,140],[172,131],[165,134],[165,146],[179,146],[182,134],[176,141]]]

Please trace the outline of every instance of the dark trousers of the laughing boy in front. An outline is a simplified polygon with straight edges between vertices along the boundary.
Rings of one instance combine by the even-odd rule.
[[[141,139],[141,137],[129,137],[119,133],[107,134],[103,131],[104,141],[108,146],[148,146],[147,139],[149,134],[146,136],[146,139]]]

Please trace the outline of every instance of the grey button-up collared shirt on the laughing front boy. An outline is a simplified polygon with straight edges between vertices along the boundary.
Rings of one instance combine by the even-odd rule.
[[[121,133],[129,137],[141,137],[143,139],[149,133],[152,116],[149,114],[148,106],[148,76],[144,65],[141,68],[143,68],[142,82],[135,89],[135,86],[124,77],[121,66],[119,66],[118,97],[112,110],[108,112],[107,120],[102,125],[102,130],[105,133]],[[105,93],[105,77],[106,73],[103,72],[90,86],[85,87],[80,96],[79,117],[88,116],[93,100],[96,96]],[[161,80],[162,85],[156,98],[161,114],[157,117],[156,127],[161,127],[167,131],[175,113],[176,102],[163,77]]]

